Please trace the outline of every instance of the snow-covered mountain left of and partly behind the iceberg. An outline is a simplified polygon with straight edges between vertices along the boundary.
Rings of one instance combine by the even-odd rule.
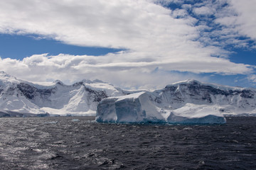
[[[127,93],[100,80],[82,80],[70,86],[55,81],[43,86],[0,72],[0,116],[95,115],[103,98]]]

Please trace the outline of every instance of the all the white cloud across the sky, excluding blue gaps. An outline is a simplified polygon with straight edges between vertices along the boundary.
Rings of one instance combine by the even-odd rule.
[[[178,3],[166,1],[170,2]],[[216,12],[212,4],[202,5],[193,11],[206,16]],[[1,59],[0,67],[9,74],[29,81],[77,81],[87,78],[123,81],[125,86],[143,86],[146,83],[162,86],[166,79],[185,78],[163,74],[173,70],[218,74],[252,72],[250,65],[235,64],[221,58],[228,52],[214,47],[215,42],[211,38],[201,37],[202,31],[210,30],[210,27],[205,24],[195,27],[198,19],[188,16],[185,8],[192,7],[187,5],[171,11],[154,4],[153,0],[2,0],[0,33],[38,34],[72,45],[120,47],[127,51],[98,57],[33,55],[21,61]],[[244,15],[247,16],[246,13]],[[225,22],[225,18],[218,19],[218,22]],[[238,25],[239,22],[242,21],[238,19]],[[250,30],[253,24],[247,24],[246,28]],[[252,38],[254,36],[252,30],[246,33],[240,31]],[[224,30],[215,34],[230,35]],[[202,45],[200,38],[209,45]],[[163,72],[153,74],[156,67]],[[169,78],[171,76],[173,78]],[[161,81],[160,78],[165,80]]]

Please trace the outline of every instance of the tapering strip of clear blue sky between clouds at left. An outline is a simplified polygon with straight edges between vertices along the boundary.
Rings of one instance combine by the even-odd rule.
[[[118,52],[120,49],[107,47],[81,47],[78,45],[67,45],[60,41],[51,39],[38,39],[36,35],[0,35],[1,58],[23,60],[31,55],[106,55],[109,52]],[[122,49],[121,49],[122,50]]]

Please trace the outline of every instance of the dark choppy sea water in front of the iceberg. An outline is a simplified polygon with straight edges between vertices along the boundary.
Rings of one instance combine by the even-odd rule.
[[[0,169],[255,169],[256,118],[125,125],[90,117],[1,118]]]

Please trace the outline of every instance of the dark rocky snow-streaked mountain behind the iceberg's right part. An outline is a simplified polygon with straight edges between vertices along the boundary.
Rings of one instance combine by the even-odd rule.
[[[154,91],[156,106],[177,109],[193,103],[218,108],[224,114],[256,113],[256,89],[206,84],[196,80],[181,81]]]

